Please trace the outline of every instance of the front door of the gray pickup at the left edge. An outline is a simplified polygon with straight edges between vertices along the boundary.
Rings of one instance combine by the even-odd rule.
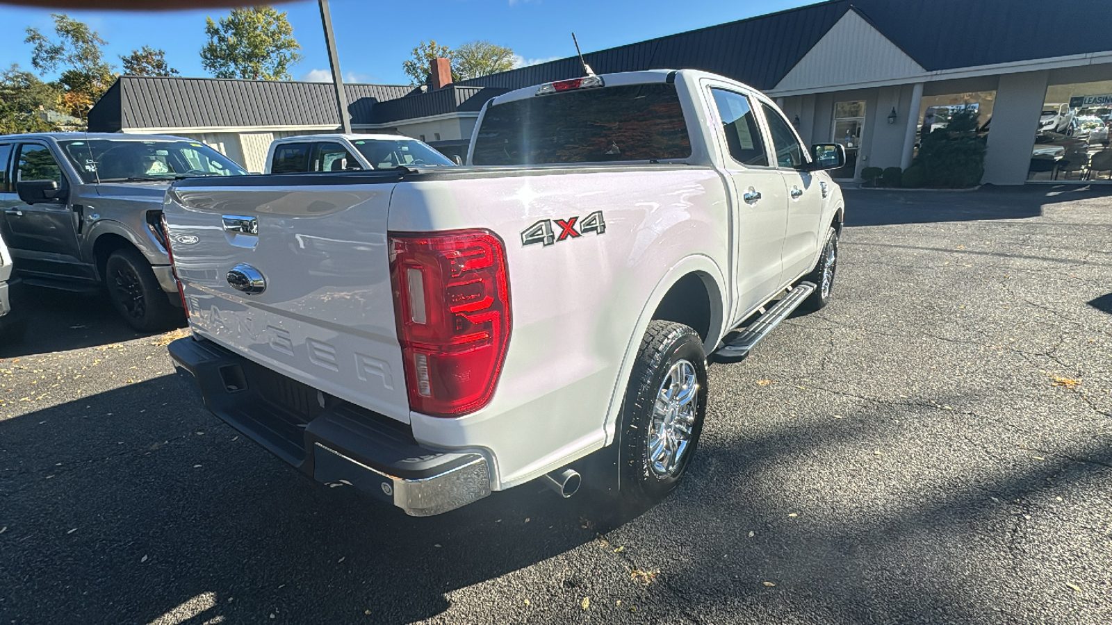
[[[63,204],[24,204],[17,195],[21,180],[54,180],[62,197],[70,188],[58,160],[47,146],[20,143],[2,196],[4,236],[20,271],[59,277],[91,277],[78,248],[78,216]]]

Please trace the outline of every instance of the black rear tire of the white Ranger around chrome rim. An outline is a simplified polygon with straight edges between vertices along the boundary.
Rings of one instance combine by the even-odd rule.
[[[689,371],[686,371],[687,367]],[[674,383],[675,378],[681,377],[672,376],[674,370],[689,373],[696,386],[692,389],[689,403],[683,404],[681,399],[686,394],[679,391],[684,387],[689,388],[689,385],[679,389],[675,389],[675,385],[669,385],[674,389],[673,396],[677,396],[675,408],[678,409],[658,411],[657,398],[664,390],[666,380]],[[618,443],[620,446],[618,470],[620,497],[624,503],[636,507],[655,504],[679,484],[703,433],[706,385],[706,356],[703,353],[703,339],[691,327],[675,321],[656,319],[649,323],[629,376],[619,421],[622,429]],[[689,407],[692,403],[694,406]],[[669,428],[668,424],[676,424],[679,427]],[[683,436],[684,427],[687,430],[687,438],[681,448],[679,438]],[[671,450],[676,456],[674,467],[671,469],[665,466],[673,464],[671,456],[665,462],[659,462],[661,457],[651,457],[649,450],[651,438],[658,444],[669,440],[665,431],[673,435],[671,440],[676,444],[659,447],[666,455]]]

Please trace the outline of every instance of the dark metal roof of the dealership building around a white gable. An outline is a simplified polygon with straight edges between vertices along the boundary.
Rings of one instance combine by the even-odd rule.
[[[1056,9],[1092,28],[1062,28],[1045,0],[831,0],[584,54],[597,73],[702,69],[768,90],[846,11],[855,9],[929,71],[1112,50],[1109,0],[1071,0]],[[1084,16],[1084,18],[1080,18]],[[579,60],[465,80],[517,89],[582,76]]]

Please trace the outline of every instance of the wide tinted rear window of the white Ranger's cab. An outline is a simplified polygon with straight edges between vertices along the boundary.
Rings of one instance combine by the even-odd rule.
[[[545,165],[687,158],[687,125],[675,85],[564,91],[493,106],[475,165]]]

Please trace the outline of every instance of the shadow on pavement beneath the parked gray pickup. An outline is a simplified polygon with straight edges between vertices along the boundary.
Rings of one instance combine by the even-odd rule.
[[[23,287],[18,305],[27,329],[22,340],[0,343],[0,358],[48,354],[151,336],[137,333],[103,294],[83,295]],[[183,319],[182,319],[183,321]],[[183,324],[182,324],[183,325]],[[167,328],[170,329],[170,328]]]

